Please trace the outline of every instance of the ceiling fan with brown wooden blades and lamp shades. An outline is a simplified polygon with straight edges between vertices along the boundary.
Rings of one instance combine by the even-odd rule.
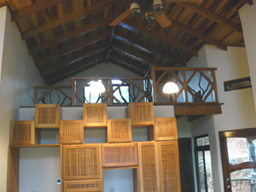
[[[162,11],[163,3],[202,3],[203,0],[135,0],[136,3],[131,3],[130,9],[127,9],[124,13],[119,15],[113,20],[109,26],[117,26],[119,22],[124,20],[128,15],[132,15],[133,19],[142,17],[145,15],[145,20],[148,21],[149,27],[152,26],[152,22],[157,20],[163,28],[170,26],[172,21]],[[163,2],[163,3],[162,3]],[[143,8],[143,11],[141,10]]]

